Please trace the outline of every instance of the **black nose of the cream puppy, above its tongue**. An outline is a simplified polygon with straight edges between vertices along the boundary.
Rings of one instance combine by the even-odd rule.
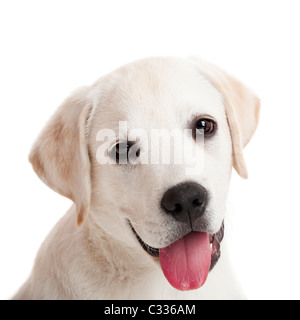
[[[207,191],[195,182],[180,183],[168,189],[161,200],[161,207],[166,213],[191,225],[204,214],[206,204]]]

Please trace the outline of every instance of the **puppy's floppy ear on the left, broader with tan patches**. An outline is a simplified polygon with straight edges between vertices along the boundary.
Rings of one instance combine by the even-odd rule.
[[[86,88],[58,108],[33,146],[29,160],[37,175],[53,190],[71,199],[80,226],[89,209],[91,183],[86,142],[90,106]]]

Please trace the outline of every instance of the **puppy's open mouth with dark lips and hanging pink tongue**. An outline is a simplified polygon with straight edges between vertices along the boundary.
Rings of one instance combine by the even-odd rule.
[[[200,288],[221,256],[224,221],[215,234],[192,231],[165,248],[149,246],[130,222],[129,225],[141,247],[150,256],[159,259],[165,277],[178,290]]]

